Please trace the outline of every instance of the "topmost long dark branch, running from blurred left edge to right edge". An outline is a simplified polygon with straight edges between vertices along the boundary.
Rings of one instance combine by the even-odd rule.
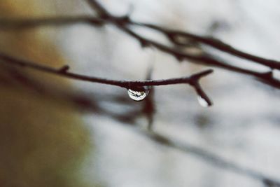
[[[127,17],[114,17],[113,15],[110,15],[104,8],[100,6],[100,4],[97,3],[97,1],[88,0],[92,6],[97,6],[98,8],[101,8],[103,17],[101,18],[94,18],[92,16],[80,16],[80,17],[61,17],[61,18],[41,18],[41,19],[22,19],[22,20],[7,20],[7,19],[0,19],[0,28],[1,29],[15,29],[15,28],[28,28],[28,27],[40,27],[40,26],[63,26],[63,25],[73,25],[73,24],[92,24],[92,25],[102,25],[106,22],[113,22],[118,23],[122,22],[125,25],[138,25],[141,27],[148,27],[150,29],[155,29],[159,32],[162,32],[162,34],[165,34],[167,38],[172,41],[172,43],[179,45],[179,46],[185,46],[188,45],[188,43],[181,43],[179,41],[179,38],[186,38],[191,39],[193,41],[204,43],[208,46],[214,47],[218,50],[222,50],[225,53],[229,53],[232,55],[235,55],[237,57],[244,58],[246,60],[251,60],[253,62],[257,62],[259,64],[265,65],[267,67],[270,67],[272,69],[280,69],[280,62],[276,60],[269,60],[263,57],[258,57],[256,55],[251,55],[249,53],[245,53],[241,50],[238,50],[229,44],[219,40],[215,39],[213,37],[206,37],[206,36],[199,36],[197,34],[192,34],[190,32],[182,32],[172,29],[167,29],[164,27],[159,27],[156,25],[146,24],[146,23],[140,23],[140,22],[133,22],[130,20],[130,18]],[[99,9],[97,9],[99,10]]]

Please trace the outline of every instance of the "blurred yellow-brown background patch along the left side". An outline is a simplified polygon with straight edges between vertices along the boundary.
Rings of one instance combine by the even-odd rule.
[[[0,18],[56,16],[62,6],[1,0]],[[75,4],[66,6],[71,11]],[[65,63],[48,29],[0,31],[0,50],[52,67]],[[44,91],[53,87],[70,89],[60,78],[0,64],[1,187],[87,186],[81,171],[92,149],[90,133],[71,104]]]

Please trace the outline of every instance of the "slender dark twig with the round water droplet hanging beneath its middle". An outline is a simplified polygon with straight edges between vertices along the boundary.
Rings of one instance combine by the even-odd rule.
[[[75,79],[78,81],[88,81],[91,83],[116,85],[121,88],[127,88],[127,89],[132,89],[132,90],[134,88],[139,88],[139,87],[144,87],[144,86],[174,85],[174,84],[189,84],[195,88],[195,85],[193,85],[193,82],[198,82],[198,81],[200,81],[200,78],[207,76],[208,74],[211,74],[213,72],[213,70],[209,69],[209,70],[197,73],[197,74],[193,74],[193,76],[186,76],[186,77],[181,77],[181,78],[170,78],[170,79],[165,79],[165,80],[116,81],[116,80],[99,78],[99,77],[94,77],[94,76],[73,74],[73,73],[67,71],[69,69],[68,66],[64,66],[60,69],[55,69],[52,67],[43,66],[41,64],[36,64],[34,62],[29,62],[26,60],[19,60],[15,57],[10,57],[3,53],[0,53],[0,60],[2,63],[36,69],[38,71],[43,71],[43,72],[50,73],[50,74],[56,74],[57,76],[63,76],[63,77]]]

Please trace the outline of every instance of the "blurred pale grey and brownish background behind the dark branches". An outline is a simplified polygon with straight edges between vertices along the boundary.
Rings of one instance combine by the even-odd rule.
[[[94,15],[85,1],[1,1],[2,18]],[[103,0],[100,3],[114,15],[130,13],[132,20],[215,36],[245,52],[280,59],[280,2],[276,0]],[[134,30],[167,43],[158,33],[137,27]],[[0,41],[1,52],[15,57],[52,67],[69,64],[71,71],[78,74],[111,79],[146,79],[151,68],[153,79],[188,76],[209,68],[187,60],[179,63],[154,48],[141,48],[138,41],[113,25],[4,30],[0,32]],[[200,50],[239,67],[267,70],[210,48]],[[1,69],[1,79],[10,77]],[[156,87],[144,102],[134,102],[121,88],[69,82],[45,74],[41,78],[41,74],[33,71],[24,72],[32,78],[40,77],[40,88],[45,90],[58,87],[87,95],[94,102],[88,105],[87,101],[79,100],[87,108],[83,110],[57,95],[46,98],[16,81],[11,81],[10,90],[2,81],[1,90],[8,91],[6,94],[1,91],[5,96],[1,98],[0,158],[4,170],[0,184],[48,186],[39,179],[53,175],[45,181],[57,186],[265,186],[238,169],[235,172],[219,167],[205,153],[280,179],[280,91],[251,76],[214,70],[214,74],[202,80],[202,87],[214,102],[208,108],[200,106],[193,88],[186,85]],[[274,76],[279,76],[279,72],[274,71]],[[25,120],[27,117],[29,120]],[[27,130],[34,120],[36,125]],[[186,150],[148,138],[145,133],[149,123],[155,133],[178,142]],[[18,130],[19,126],[22,130]],[[19,137],[21,133],[25,135]],[[45,134],[45,141],[41,141],[41,134]],[[29,140],[25,142],[27,136]],[[34,141],[38,143],[35,145]],[[57,146],[57,142],[64,144]]]

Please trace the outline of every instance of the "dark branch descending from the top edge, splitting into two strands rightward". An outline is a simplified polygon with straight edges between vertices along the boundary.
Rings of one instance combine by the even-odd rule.
[[[132,20],[130,20],[130,18],[127,16],[116,17],[116,16],[111,15],[108,11],[106,11],[106,9],[101,4],[99,4],[98,1],[96,1],[96,0],[89,0],[89,1],[90,1],[91,6],[94,7],[94,9],[102,11],[104,18],[106,18],[107,21],[113,23],[114,25],[116,25],[120,29],[122,29],[124,32],[126,32],[130,36],[137,39],[141,43],[141,46],[144,46],[144,47],[152,46],[152,47],[158,48],[158,50],[161,50],[162,52],[168,53],[169,55],[173,55],[174,57],[176,57],[177,60],[185,60],[185,59],[195,60],[195,62],[199,62],[200,64],[211,65],[214,67],[228,69],[230,71],[235,71],[235,72],[238,72],[241,74],[254,76],[255,78],[258,79],[258,81],[261,81],[262,83],[271,85],[274,88],[280,88],[280,81],[277,80],[276,78],[274,78],[272,74],[268,73],[271,76],[267,76],[267,72],[260,73],[257,71],[252,71],[252,70],[248,70],[248,69],[242,69],[240,67],[235,67],[233,65],[226,64],[225,62],[218,60],[218,57],[213,57],[211,55],[192,55],[192,54],[188,54],[188,53],[182,53],[179,50],[175,50],[175,49],[165,46],[161,43],[151,41],[149,39],[146,39],[146,38],[140,36],[139,34],[136,34],[135,32],[132,32],[132,30],[127,27],[127,25],[130,25],[130,24],[141,25],[141,26],[157,29],[158,31],[163,32],[164,34],[169,36],[169,39],[172,39],[171,36],[174,36],[174,35],[177,36],[179,34],[181,36],[182,34],[184,34],[183,36],[188,36],[190,39],[195,39],[195,41],[200,41],[200,42],[208,44],[214,48],[223,50],[226,53],[230,53],[232,55],[237,55],[237,56],[243,57],[247,60],[253,60],[254,62],[258,62],[259,64],[263,64],[263,65],[273,68],[273,69],[278,69],[278,68],[280,69],[280,66],[279,66],[280,62],[277,62],[274,60],[267,60],[262,57],[257,57],[254,55],[250,55],[248,53],[241,52],[240,50],[232,48],[232,46],[230,46],[226,43],[223,43],[221,41],[218,41],[217,39],[210,39],[210,38],[198,36],[195,34],[189,34],[187,32],[175,32],[175,31],[167,30],[167,29],[155,26],[155,25],[148,25],[148,24],[144,24],[144,23],[132,22]],[[174,42],[174,40],[173,40],[173,42]],[[207,99],[207,98],[205,98],[205,99]],[[210,100],[207,99],[207,101],[211,105]]]

